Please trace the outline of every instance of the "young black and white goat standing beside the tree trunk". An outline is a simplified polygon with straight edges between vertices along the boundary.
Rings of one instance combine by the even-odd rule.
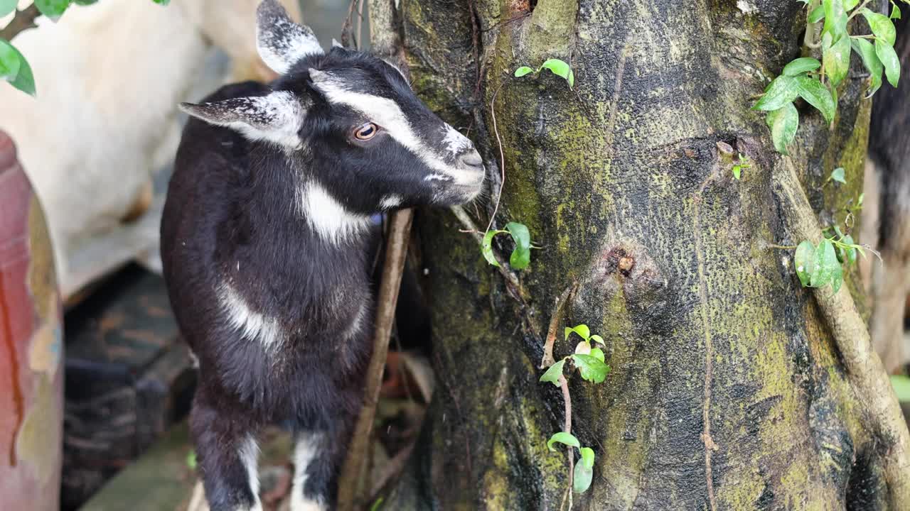
[[[256,436],[295,433],[291,508],[332,507],[371,351],[370,216],[478,195],[480,155],[393,65],[333,47],[275,0],[258,50],[281,76],[182,105],[161,252],[199,362],[190,419],[209,506],[260,509]],[[204,121],[204,122],[203,122]],[[223,127],[221,127],[223,126]]]

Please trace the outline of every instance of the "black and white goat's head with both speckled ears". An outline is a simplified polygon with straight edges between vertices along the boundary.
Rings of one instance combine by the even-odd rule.
[[[324,53],[275,0],[259,5],[258,50],[281,75],[268,95],[181,106],[280,146],[300,173],[305,210],[341,205],[362,216],[463,204],[480,193],[485,173],[474,145],[433,114],[394,65],[338,46]]]

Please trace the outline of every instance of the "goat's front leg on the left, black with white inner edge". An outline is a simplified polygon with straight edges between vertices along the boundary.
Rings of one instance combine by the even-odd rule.
[[[203,486],[211,511],[262,511],[256,427],[248,414],[218,413],[200,386],[190,414]]]

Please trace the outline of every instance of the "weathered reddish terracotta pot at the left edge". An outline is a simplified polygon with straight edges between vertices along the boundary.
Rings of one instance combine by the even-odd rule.
[[[0,131],[0,509],[59,508],[62,359],[45,216]]]

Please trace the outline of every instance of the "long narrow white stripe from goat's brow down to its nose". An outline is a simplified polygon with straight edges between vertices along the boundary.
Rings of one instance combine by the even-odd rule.
[[[466,172],[455,165],[446,163],[443,155],[436,154],[420,140],[399,105],[393,100],[388,97],[349,91],[334,76],[316,69],[310,69],[309,76],[319,92],[330,103],[346,105],[366,115],[371,121],[384,127],[392,138],[400,145],[407,147],[424,164],[440,174],[450,176],[456,185],[477,185],[477,173]]]

